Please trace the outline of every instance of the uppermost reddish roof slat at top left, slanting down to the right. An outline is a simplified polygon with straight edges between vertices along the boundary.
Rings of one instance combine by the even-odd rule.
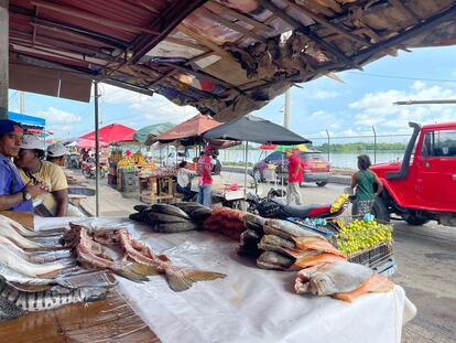
[[[45,2],[45,1],[41,1],[41,0],[32,0],[31,3],[36,6],[36,7],[48,9],[48,10],[59,12],[59,13],[63,13],[63,14],[67,14],[67,15],[70,15],[70,17],[84,19],[84,20],[87,20],[87,21],[91,21],[94,23],[97,23],[97,24],[100,24],[100,25],[104,25],[104,26],[107,26],[107,28],[111,28],[111,29],[120,29],[120,30],[123,30],[123,31],[132,32],[132,33],[148,32],[148,33],[151,33],[151,34],[160,34],[160,32],[158,32],[155,30],[150,30],[150,29],[146,29],[146,28],[126,24],[126,23],[121,23],[121,22],[118,22],[118,21],[107,19],[107,18],[93,15],[93,14],[89,14],[85,11],[80,11],[80,10],[77,10],[77,9],[74,9],[74,8],[67,8],[67,7],[64,7],[64,6],[59,6],[59,4],[55,4],[55,3],[51,3],[51,2]]]

